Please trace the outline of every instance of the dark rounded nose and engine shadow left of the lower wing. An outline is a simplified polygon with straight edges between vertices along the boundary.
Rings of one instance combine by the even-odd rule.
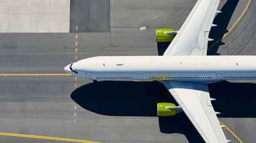
[[[99,81],[82,85],[71,98],[82,108],[106,116],[157,116],[157,103],[177,102],[157,81]],[[158,117],[161,133],[184,134],[189,142],[204,142],[184,113]]]

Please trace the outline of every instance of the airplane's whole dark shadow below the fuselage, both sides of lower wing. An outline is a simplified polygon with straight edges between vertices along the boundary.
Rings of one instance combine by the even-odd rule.
[[[218,117],[256,117],[256,84],[222,81],[209,84],[213,107]],[[82,108],[106,116],[157,116],[157,103],[177,102],[157,81],[99,81],[82,85],[71,98]],[[203,142],[184,113],[158,117],[161,133],[181,133],[189,142]]]

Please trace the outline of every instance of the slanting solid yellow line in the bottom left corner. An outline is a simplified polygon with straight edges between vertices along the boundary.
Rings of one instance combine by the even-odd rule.
[[[7,136],[13,136],[13,137],[25,137],[25,138],[40,138],[40,139],[46,139],[46,140],[58,140],[58,141],[70,141],[70,142],[100,143],[95,141],[76,140],[72,138],[46,137],[41,135],[27,135],[27,134],[13,134],[13,133],[0,133],[0,135],[7,135]]]

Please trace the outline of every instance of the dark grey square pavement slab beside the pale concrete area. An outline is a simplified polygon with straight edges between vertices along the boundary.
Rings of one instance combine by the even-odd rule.
[[[70,1],[70,32],[109,32],[109,0]],[[78,26],[78,30],[76,30]]]

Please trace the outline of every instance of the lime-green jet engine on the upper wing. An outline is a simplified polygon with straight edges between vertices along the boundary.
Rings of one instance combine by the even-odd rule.
[[[157,42],[171,42],[174,39],[175,33],[167,34],[168,32],[175,32],[173,29],[157,29],[155,33],[157,35]]]

